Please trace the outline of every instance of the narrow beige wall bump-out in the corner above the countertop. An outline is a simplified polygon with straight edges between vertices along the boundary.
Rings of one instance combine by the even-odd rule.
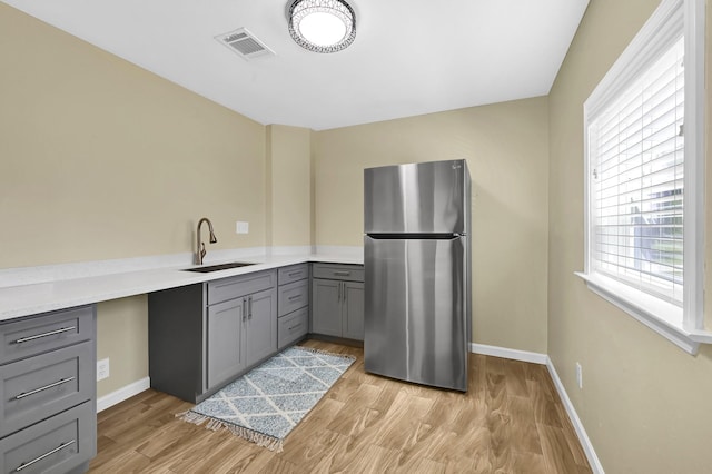
[[[267,245],[312,245],[312,130],[267,126]]]

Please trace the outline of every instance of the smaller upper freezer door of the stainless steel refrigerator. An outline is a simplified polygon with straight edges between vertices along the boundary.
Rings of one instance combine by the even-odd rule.
[[[465,160],[367,168],[364,233],[464,234],[468,180]]]

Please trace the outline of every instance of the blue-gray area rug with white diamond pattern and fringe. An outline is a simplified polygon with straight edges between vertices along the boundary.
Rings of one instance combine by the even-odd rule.
[[[195,408],[181,419],[235,435],[280,452],[284,438],[354,363],[343,356],[307,347],[290,347]]]

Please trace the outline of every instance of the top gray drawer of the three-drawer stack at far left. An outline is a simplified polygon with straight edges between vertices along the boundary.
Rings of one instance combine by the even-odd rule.
[[[93,337],[93,306],[63,309],[0,325],[0,364]]]

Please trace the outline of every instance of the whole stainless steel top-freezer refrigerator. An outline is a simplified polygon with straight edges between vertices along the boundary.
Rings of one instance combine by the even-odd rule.
[[[364,170],[366,372],[467,391],[469,189],[465,160]]]

